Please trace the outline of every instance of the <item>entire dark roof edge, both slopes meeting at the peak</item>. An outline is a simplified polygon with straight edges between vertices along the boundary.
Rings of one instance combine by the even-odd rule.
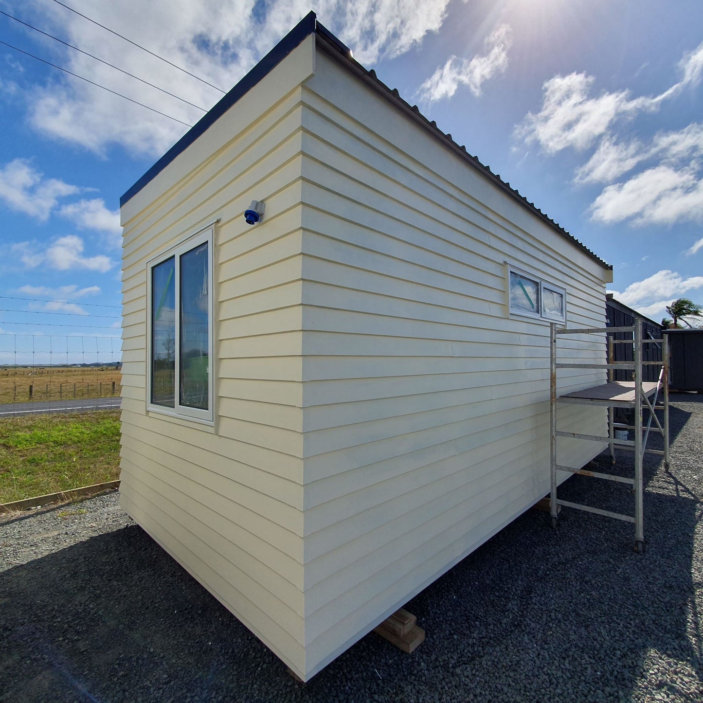
[[[352,51],[337,39],[332,32],[323,27],[317,19],[314,12],[310,12],[306,17],[304,17],[293,29],[288,32],[288,34],[281,39],[281,41],[276,44],[276,46],[269,51],[269,53],[262,58],[262,60],[255,65],[252,70],[250,70],[243,79],[236,84],[236,86],[229,91],[226,96],[224,96],[214,108],[209,110],[203,117],[191,128],[186,134],[184,134],[179,141],[177,141],[172,148],[170,148],[143,176],[141,176],[136,183],[134,183],[131,188],[127,190],[124,195],[120,198],[120,207],[129,202],[131,198],[134,197],[139,191],[141,191],[144,186],[150,181],[155,179],[155,177],[160,174],[176,157],[181,154],[188,146],[202,135],[209,127],[214,124],[219,118],[224,115],[224,113],[229,110],[232,105],[240,100],[245,94],[250,91],[257,83],[259,83],[266,75],[273,70],[276,65],[280,63],[288,54],[295,49],[303,39],[309,36],[309,34],[316,34],[318,40],[321,40],[321,46],[324,49],[333,53],[338,60],[341,60],[349,70],[352,70],[361,79],[365,79],[372,86],[377,89],[380,94],[385,96],[389,101],[392,101],[397,107],[399,107],[403,112],[405,112],[409,117],[417,120],[420,124],[425,127],[430,134],[435,138],[441,140],[446,146],[451,148],[455,153],[462,157],[465,162],[472,168],[477,169],[486,179],[494,183],[502,191],[508,193],[511,198],[520,203],[523,207],[527,208],[532,214],[536,215],[543,222],[546,222],[551,228],[560,233],[571,242],[572,244],[579,247],[581,250],[586,252],[592,259],[595,259],[601,266],[606,269],[612,270],[612,265],[607,264],[603,259],[598,257],[595,252],[591,251],[584,245],[581,241],[576,239],[572,234],[570,234],[565,228],[557,224],[553,219],[548,217],[544,212],[541,211],[533,202],[529,202],[524,195],[520,195],[516,188],[512,188],[510,183],[503,181],[499,174],[494,174],[491,169],[482,164],[478,157],[471,155],[467,152],[466,147],[458,144],[453,140],[451,134],[445,134],[439,127],[437,127],[437,122],[434,120],[427,120],[418,108],[417,105],[411,105],[410,103],[404,101],[401,98],[400,93],[396,88],[389,88],[385,83],[383,83],[376,72],[372,70],[367,70],[358,61],[352,58]]]

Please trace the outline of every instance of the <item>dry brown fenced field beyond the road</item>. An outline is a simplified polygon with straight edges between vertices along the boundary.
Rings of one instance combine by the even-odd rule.
[[[108,398],[119,396],[121,392],[122,373],[114,365],[81,368],[0,367],[0,404],[67,398]]]

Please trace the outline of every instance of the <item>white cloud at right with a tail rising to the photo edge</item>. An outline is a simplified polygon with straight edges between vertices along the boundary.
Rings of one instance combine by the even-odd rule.
[[[681,80],[658,96],[631,98],[630,91],[603,91],[592,97],[595,78],[585,73],[556,75],[543,84],[542,107],[536,114],[528,112],[515,134],[527,143],[536,142],[548,154],[565,148],[583,151],[593,146],[618,120],[627,120],[641,112],[653,112],[664,101],[676,96],[686,86],[699,82],[703,72],[703,44],[683,57],[679,63]],[[600,160],[607,153],[601,153]],[[592,169],[600,163],[596,160]],[[605,169],[609,172],[610,169]],[[582,175],[583,179],[583,175]]]

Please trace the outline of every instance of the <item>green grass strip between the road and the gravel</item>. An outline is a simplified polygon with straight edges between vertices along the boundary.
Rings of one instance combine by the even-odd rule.
[[[120,411],[0,421],[0,503],[120,477]]]

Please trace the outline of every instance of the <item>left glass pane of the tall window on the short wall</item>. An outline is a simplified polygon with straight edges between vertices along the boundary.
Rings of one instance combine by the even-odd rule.
[[[151,402],[174,407],[176,280],[174,257],[151,269]]]

